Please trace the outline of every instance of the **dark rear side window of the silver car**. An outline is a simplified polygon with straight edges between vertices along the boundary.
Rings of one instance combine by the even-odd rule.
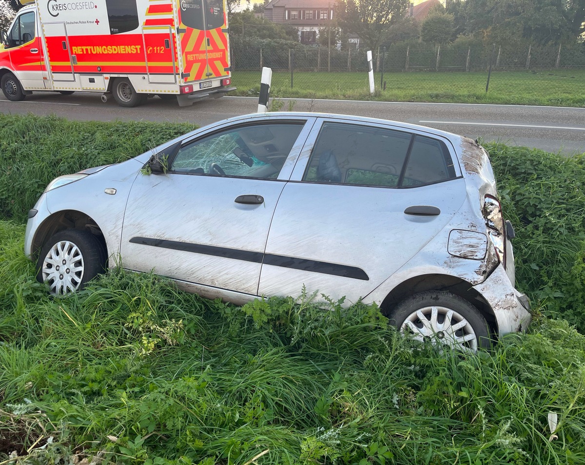
[[[326,122],[304,181],[411,187],[455,177],[445,144],[394,129]]]

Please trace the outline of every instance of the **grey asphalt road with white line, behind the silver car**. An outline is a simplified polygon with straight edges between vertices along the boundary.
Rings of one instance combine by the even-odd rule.
[[[287,99],[284,109],[288,108]],[[176,102],[149,99],[137,108],[122,108],[112,98],[105,104],[99,94],[59,95],[36,92],[22,102],[0,97],[2,113],[56,114],[75,120],[187,121],[206,125],[230,116],[256,111],[256,97],[222,97],[179,107]],[[585,152],[585,109],[554,106],[412,104],[296,99],[295,111],[346,113],[431,126],[487,142],[537,147],[565,154]]]

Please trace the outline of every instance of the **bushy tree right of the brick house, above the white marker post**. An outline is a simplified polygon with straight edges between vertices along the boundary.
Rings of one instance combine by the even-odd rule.
[[[409,4],[409,0],[338,0],[336,16],[345,32],[357,34],[370,50],[376,51]]]

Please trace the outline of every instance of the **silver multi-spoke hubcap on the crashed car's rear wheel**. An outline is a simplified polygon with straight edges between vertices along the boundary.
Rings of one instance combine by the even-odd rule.
[[[442,306],[427,306],[408,316],[400,327],[414,339],[453,349],[476,352],[477,336],[472,325],[455,310]]]

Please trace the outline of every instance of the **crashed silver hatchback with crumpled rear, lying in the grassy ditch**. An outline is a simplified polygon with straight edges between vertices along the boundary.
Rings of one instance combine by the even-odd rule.
[[[512,237],[473,140],[286,112],[56,178],[29,212],[25,252],[55,295],[108,261],[236,304],[304,285],[377,302],[417,339],[476,350],[530,321]]]

